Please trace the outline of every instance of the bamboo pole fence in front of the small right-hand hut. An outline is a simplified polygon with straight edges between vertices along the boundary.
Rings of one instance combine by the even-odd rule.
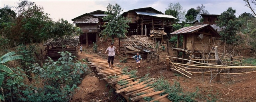
[[[221,53],[219,54],[221,55]],[[251,72],[245,72],[245,73],[231,73],[227,72],[227,69],[242,69],[242,68],[256,68],[256,66],[242,66],[242,56],[226,56],[221,59],[223,61],[223,64],[216,65],[215,59],[182,59],[178,57],[171,57],[167,56],[168,58],[172,59],[181,59],[185,61],[189,61],[186,64],[183,63],[174,63],[171,60],[169,62],[171,63],[170,66],[174,67],[171,68],[172,70],[175,70],[182,75],[185,75],[186,77],[189,77],[187,74],[245,74],[245,73],[254,73],[256,71]],[[168,63],[169,63],[168,62]],[[238,66],[234,66],[238,65]],[[215,72],[215,69],[220,69],[219,73]],[[202,70],[203,69],[203,70]],[[189,77],[191,78],[191,77]]]

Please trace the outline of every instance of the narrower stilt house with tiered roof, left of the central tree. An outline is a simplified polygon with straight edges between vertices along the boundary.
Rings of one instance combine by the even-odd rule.
[[[86,47],[88,47],[88,44],[98,43],[98,35],[103,29],[102,25],[104,24],[102,18],[105,16],[107,15],[104,14],[104,11],[97,10],[72,19],[73,24],[80,27],[83,31],[83,34],[80,36],[81,44],[86,43]]]

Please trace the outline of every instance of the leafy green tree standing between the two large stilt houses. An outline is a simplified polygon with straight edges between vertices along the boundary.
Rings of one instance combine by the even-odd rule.
[[[123,11],[121,6],[119,4],[108,4],[107,6],[107,12],[104,14],[107,14],[108,16],[104,17],[103,20],[108,22],[105,27],[105,29],[100,33],[102,37],[111,37],[112,41],[114,42],[114,37],[118,37],[119,39],[125,36],[125,33],[128,31],[126,30],[128,26],[128,20],[127,18],[124,18],[120,12]]]

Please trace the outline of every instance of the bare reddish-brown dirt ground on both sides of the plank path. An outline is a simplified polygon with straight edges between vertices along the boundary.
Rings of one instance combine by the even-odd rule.
[[[104,52],[110,42],[108,40],[99,43],[98,51],[100,53],[92,53],[93,45],[91,44],[89,49],[78,55],[77,59],[85,59],[86,54],[95,54],[107,59],[108,55],[104,54]],[[117,43],[114,43],[114,46],[118,48]],[[227,53],[233,50],[236,53],[239,51],[244,58],[254,56],[251,49],[248,49],[246,45],[225,46],[226,49],[224,49],[224,45],[219,45],[219,48],[227,51]],[[83,48],[85,48],[85,45],[83,45]],[[132,70],[136,69],[136,63],[133,59],[128,59],[127,63],[120,63],[119,61],[120,58],[116,57],[114,63],[127,66]],[[144,62],[141,63],[141,68],[137,70],[137,75],[140,77],[150,73],[150,77],[165,77],[171,85],[177,81],[183,88],[183,92],[195,92],[198,88],[199,93],[202,95],[201,97],[204,98],[198,100],[201,102],[213,100],[213,98],[219,100],[219,102],[256,102],[256,73],[230,75],[232,81],[226,75],[221,75],[220,82],[212,81],[210,84],[210,75],[193,74],[190,75],[191,78],[180,76],[174,71],[167,71],[165,62],[160,62],[159,65]],[[248,72],[248,70],[254,71],[255,69],[233,69],[232,73]],[[100,80],[100,76],[95,72],[92,70],[90,75],[83,78],[83,81],[78,86],[80,89],[74,94],[72,102],[125,102],[120,95],[114,93],[115,90],[110,88],[105,80]],[[143,100],[140,102],[143,102]]]

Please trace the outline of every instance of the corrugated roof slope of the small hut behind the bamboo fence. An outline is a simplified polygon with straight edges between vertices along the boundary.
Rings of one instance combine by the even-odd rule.
[[[204,24],[204,25],[199,25],[199,26],[191,26],[191,27],[183,27],[177,31],[174,31],[173,33],[171,34],[179,34],[179,33],[191,33],[193,31],[196,31],[198,29],[201,29],[205,26],[208,26],[207,24]]]

